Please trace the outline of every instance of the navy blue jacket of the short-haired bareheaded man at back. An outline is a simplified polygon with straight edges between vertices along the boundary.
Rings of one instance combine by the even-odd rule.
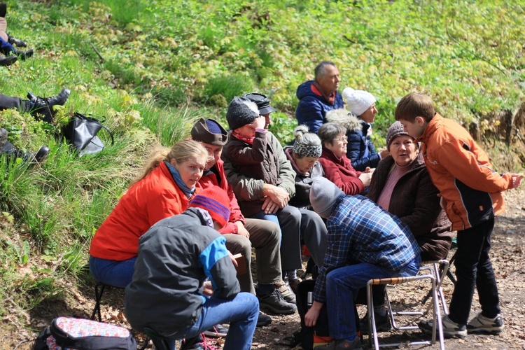
[[[343,108],[343,97],[336,91],[335,102],[330,104],[322,95],[311,90],[313,83],[314,80],[309,80],[297,87],[296,94],[299,104],[295,109],[295,118],[299,125],[307,125],[309,131],[316,134],[319,127],[326,123],[326,112]]]

